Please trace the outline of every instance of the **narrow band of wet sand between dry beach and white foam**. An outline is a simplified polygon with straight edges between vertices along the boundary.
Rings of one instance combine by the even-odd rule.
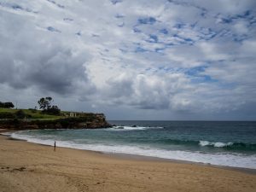
[[[26,142],[26,143],[32,143],[32,142],[26,141],[25,139],[13,138],[13,137],[10,137],[9,135],[4,135],[3,134],[4,132],[15,132],[15,131],[19,131],[19,130],[13,130],[13,131],[8,131],[8,130],[1,131],[0,130],[0,136],[7,137],[7,139],[9,139],[9,140],[16,140],[16,141],[23,141],[23,142]],[[53,147],[52,145],[49,145],[49,144],[42,144],[42,143],[33,143],[33,144]],[[57,146],[57,148],[68,148],[68,147],[58,147]],[[197,166],[211,166],[211,167],[220,168],[220,169],[224,169],[224,170],[244,172],[244,173],[247,173],[247,174],[256,175],[256,169],[245,168],[245,167],[218,166],[218,165],[213,165],[213,164],[210,164],[210,163],[195,162],[195,161],[189,161],[189,160],[166,159],[166,158],[147,156],[147,155],[141,155],[141,154],[110,153],[110,152],[102,152],[102,151],[80,149],[80,148],[69,148],[69,149],[80,150],[80,151],[85,151],[85,152],[87,151],[87,152],[107,155],[108,157],[116,158],[116,159],[120,159],[120,160],[139,160],[139,161],[152,161],[152,162],[154,162],[154,161],[158,162],[159,161],[159,162],[170,162],[170,163],[178,163],[178,164],[197,165]]]

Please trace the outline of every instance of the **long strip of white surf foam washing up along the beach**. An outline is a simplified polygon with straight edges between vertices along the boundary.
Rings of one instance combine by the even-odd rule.
[[[20,132],[21,133],[21,132]],[[132,146],[132,145],[110,145],[107,143],[75,143],[72,141],[61,141],[56,138],[46,139],[46,138],[36,138],[35,136],[19,134],[15,132],[11,134],[11,137],[24,139],[31,143],[41,143],[47,145],[53,145],[56,141],[57,146],[65,148],[79,148],[85,150],[93,150],[107,153],[123,153],[123,154],[138,154],[151,157],[159,157],[171,160],[189,160],[193,162],[201,162],[218,166],[234,166],[256,169],[256,154],[253,155],[243,155],[243,154],[209,154],[201,152],[189,152],[181,150],[165,150],[157,148],[147,148],[143,146]],[[206,144],[206,143],[204,143]],[[217,144],[218,145],[218,144]]]

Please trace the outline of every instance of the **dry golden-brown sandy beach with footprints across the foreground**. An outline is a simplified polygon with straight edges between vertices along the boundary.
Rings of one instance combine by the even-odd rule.
[[[0,136],[0,191],[256,191],[256,175],[213,166],[138,160]]]

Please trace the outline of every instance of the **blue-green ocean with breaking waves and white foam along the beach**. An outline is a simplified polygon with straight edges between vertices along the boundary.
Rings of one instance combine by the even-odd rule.
[[[97,130],[35,130],[13,138],[105,153],[256,169],[256,122],[109,121]]]

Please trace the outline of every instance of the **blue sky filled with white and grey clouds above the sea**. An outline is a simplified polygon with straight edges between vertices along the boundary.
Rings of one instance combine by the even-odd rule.
[[[256,120],[255,0],[0,0],[0,101]]]

